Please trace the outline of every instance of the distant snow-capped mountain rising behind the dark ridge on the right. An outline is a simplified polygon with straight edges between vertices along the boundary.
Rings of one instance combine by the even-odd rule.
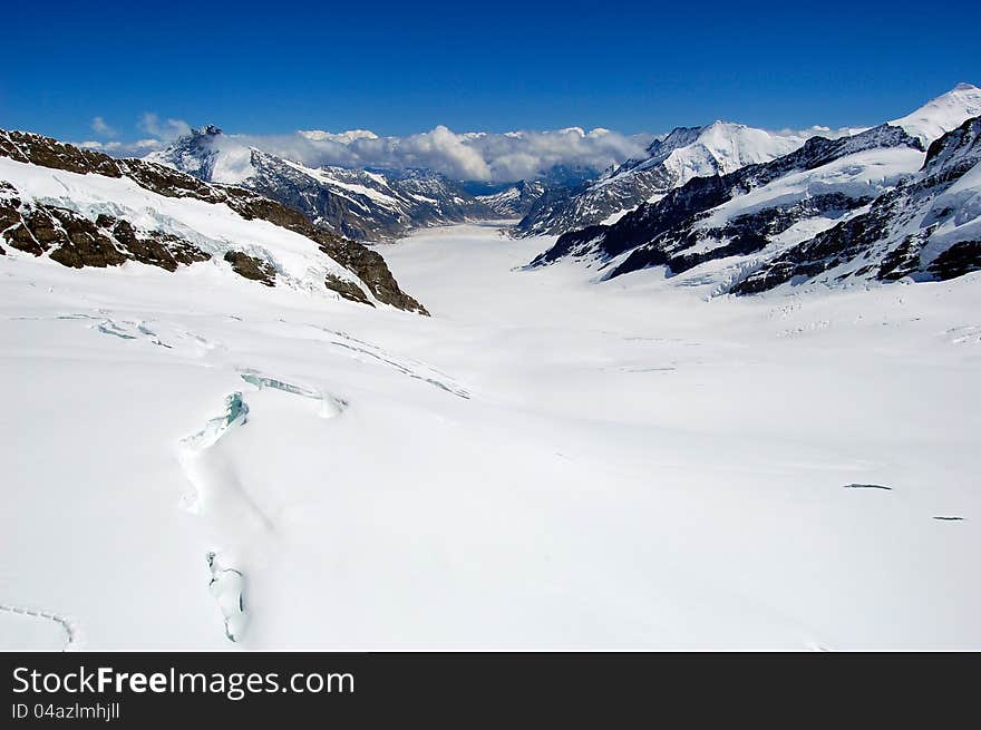
[[[516,227],[518,235],[562,234],[613,223],[642,203],[654,202],[692,177],[725,175],[800,147],[804,133],[773,133],[716,121],[678,127],[648,147],[648,157],[608,169],[585,189],[543,197]]]

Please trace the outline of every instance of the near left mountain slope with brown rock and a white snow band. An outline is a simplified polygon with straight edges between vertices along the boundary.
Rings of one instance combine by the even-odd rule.
[[[234,177],[229,166],[218,174]],[[210,262],[266,286],[425,313],[380,254],[281,203],[30,133],[0,130],[0,231],[3,255],[75,269],[135,262],[171,272]]]

